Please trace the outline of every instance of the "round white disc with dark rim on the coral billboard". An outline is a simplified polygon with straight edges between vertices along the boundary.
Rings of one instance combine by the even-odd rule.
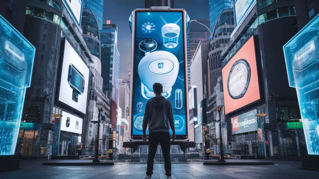
[[[245,95],[249,86],[250,75],[248,61],[241,59],[233,64],[227,80],[227,90],[231,98],[239,99]]]

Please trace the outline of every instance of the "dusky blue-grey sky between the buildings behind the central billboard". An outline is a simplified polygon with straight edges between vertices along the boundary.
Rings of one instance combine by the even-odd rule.
[[[132,34],[129,17],[136,8],[145,8],[145,0],[104,0],[103,23],[111,20],[117,26],[117,48],[120,53],[120,75],[125,78],[131,68]],[[174,8],[183,8],[190,19],[208,19],[208,0],[174,0]]]

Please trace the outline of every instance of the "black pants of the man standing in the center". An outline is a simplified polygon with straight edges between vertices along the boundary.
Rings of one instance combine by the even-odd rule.
[[[146,175],[152,176],[153,174],[153,165],[154,157],[157,151],[158,143],[162,147],[162,153],[164,156],[164,165],[167,176],[172,175],[172,166],[171,166],[171,141],[169,132],[150,132],[148,134],[148,157],[147,157],[147,169]]]

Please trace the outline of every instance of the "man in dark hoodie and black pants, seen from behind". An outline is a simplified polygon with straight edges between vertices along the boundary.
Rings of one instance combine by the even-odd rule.
[[[172,179],[171,175],[171,156],[170,156],[170,135],[169,127],[172,128],[172,141],[175,140],[174,118],[171,102],[162,97],[163,86],[160,83],[153,84],[155,97],[149,99],[145,105],[143,119],[143,137],[146,141],[146,128],[148,125],[148,148],[147,169],[145,179],[151,179],[153,174],[154,157],[157,151],[158,143],[162,147],[164,156],[164,165],[167,179]]]

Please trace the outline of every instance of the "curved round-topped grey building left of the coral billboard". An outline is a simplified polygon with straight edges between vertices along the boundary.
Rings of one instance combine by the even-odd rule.
[[[234,27],[234,10],[223,10],[217,18],[214,31],[212,32],[211,47],[208,54],[209,59],[207,60],[207,87],[209,97],[213,94],[214,87],[218,82],[218,78],[221,76],[222,64],[219,62],[220,54],[228,43]]]

